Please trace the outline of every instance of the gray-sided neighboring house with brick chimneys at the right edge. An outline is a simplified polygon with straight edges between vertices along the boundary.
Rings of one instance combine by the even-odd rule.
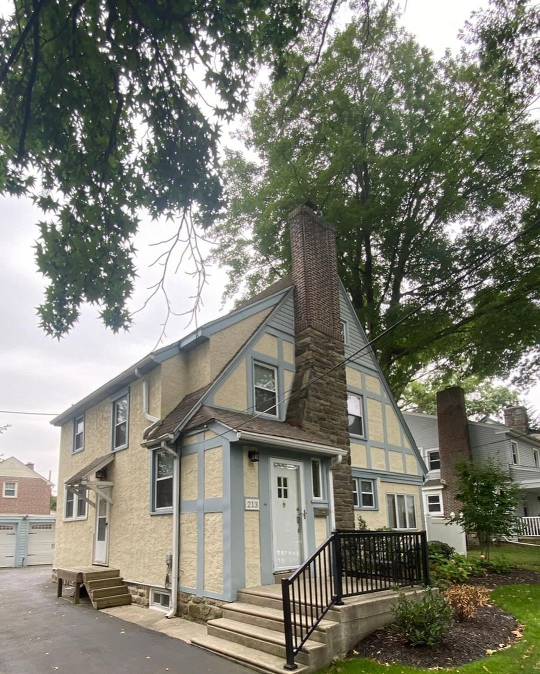
[[[473,462],[492,458],[508,468],[512,481],[521,489],[525,536],[540,536],[540,438],[528,427],[523,407],[505,410],[505,424],[492,419],[471,421],[461,405],[463,391],[449,388],[438,394],[438,414],[404,412],[403,417],[428,467],[423,497],[426,515],[444,518],[455,510],[453,480],[445,474],[445,463],[463,456]],[[446,404],[450,400],[450,404]],[[468,446],[467,446],[468,444]],[[446,458],[446,462],[445,462]]]

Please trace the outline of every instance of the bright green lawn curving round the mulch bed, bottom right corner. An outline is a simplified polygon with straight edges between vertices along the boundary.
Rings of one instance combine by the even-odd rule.
[[[540,585],[510,585],[496,588],[492,599],[503,609],[515,615],[525,625],[520,642],[512,648],[477,660],[469,665],[460,665],[441,671],[452,674],[538,674],[540,671]],[[353,658],[321,670],[319,674],[419,674],[428,669],[416,669],[404,665],[378,665],[366,658]]]

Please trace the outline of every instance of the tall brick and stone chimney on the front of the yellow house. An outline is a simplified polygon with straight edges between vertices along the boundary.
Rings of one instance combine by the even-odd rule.
[[[347,451],[333,467],[335,524],[354,528],[352,474],[347,417],[345,365],[299,391],[308,381],[335,367],[344,358],[339,321],[339,277],[335,228],[307,202],[289,216],[296,371],[287,421],[318,441]]]

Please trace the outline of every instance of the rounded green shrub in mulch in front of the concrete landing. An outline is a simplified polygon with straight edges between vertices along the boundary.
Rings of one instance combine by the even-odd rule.
[[[419,600],[400,594],[392,615],[391,631],[411,646],[434,646],[452,627],[450,603],[431,588]]]

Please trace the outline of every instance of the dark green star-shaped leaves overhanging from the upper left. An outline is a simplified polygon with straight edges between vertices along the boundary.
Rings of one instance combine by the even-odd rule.
[[[137,212],[224,205],[220,127],[246,109],[259,63],[283,72],[304,0],[15,0],[0,23],[0,193],[33,195],[38,311],[65,334],[84,301],[130,324]],[[196,82],[211,86],[206,105]]]

